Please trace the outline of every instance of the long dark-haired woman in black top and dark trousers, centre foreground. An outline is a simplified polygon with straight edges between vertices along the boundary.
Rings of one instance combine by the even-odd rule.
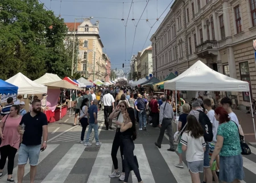
[[[122,123],[120,131],[122,132],[123,142],[123,161],[125,163],[125,181],[128,182],[130,171],[133,170],[139,183],[142,183],[141,174],[134,158],[134,140],[137,138],[135,127],[135,114],[131,107],[128,107],[123,115],[124,122]]]

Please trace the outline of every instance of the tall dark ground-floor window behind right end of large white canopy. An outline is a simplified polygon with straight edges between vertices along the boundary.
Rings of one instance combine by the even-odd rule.
[[[249,82],[250,92],[251,92],[251,80],[249,72],[249,64],[247,61],[239,63],[240,67],[240,77],[242,81]],[[250,102],[249,92],[243,92],[243,101]]]

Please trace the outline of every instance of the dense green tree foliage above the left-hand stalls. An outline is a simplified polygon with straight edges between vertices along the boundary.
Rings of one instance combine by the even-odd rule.
[[[64,19],[38,0],[1,0],[0,72],[6,80],[21,72],[31,80],[46,72],[71,75],[72,41],[64,41]]]

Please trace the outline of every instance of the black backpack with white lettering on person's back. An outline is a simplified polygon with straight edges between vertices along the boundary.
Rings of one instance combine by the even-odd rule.
[[[199,111],[199,123],[204,130],[204,140],[205,142],[211,142],[213,139],[212,123],[210,123],[210,119],[203,111],[197,111]]]

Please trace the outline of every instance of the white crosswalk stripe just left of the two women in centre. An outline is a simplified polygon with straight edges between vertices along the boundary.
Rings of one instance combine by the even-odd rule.
[[[88,183],[94,182],[110,182],[109,174],[112,173],[112,144],[102,144],[98,151],[96,160],[90,172]]]

